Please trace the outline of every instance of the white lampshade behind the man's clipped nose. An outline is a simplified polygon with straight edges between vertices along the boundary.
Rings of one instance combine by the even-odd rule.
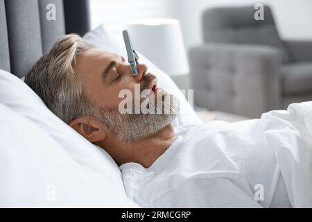
[[[133,48],[144,54],[169,76],[189,74],[180,22],[177,19],[125,21]]]

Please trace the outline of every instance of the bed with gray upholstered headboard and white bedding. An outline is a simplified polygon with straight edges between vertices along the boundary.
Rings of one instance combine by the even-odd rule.
[[[55,20],[46,19],[51,3]],[[89,30],[88,8],[87,0],[0,0],[0,207],[141,207],[128,199],[112,157],[58,119],[21,80],[64,33],[84,35],[99,49],[125,57],[123,43],[114,42],[103,25]],[[171,78],[141,53],[139,58],[159,87],[180,100],[176,133],[201,124]],[[312,102],[293,104],[259,122],[231,125],[248,132],[243,139],[259,135],[274,148],[294,207],[311,207],[311,155],[306,155],[311,154],[311,110]],[[291,140],[294,135],[300,140]],[[307,145],[294,147],[294,142]]]

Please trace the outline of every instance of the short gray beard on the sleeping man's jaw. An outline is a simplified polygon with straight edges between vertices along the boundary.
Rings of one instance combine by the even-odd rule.
[[[177,97],[166,93],[170,100],[162,99],[162,104],[155,105],[154,113],[121,114],[118,105],[113,108],[98,108],[98,119],[116,135],[121,143],[130,143],[157,133],[168,126],[177,116],[179,101]],[[157,110],[162,109],[162,112]],[[164,112],[169,110],[170,112]]]

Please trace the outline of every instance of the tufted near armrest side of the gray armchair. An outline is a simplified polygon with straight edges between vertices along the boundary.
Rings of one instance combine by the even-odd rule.
[[[209,43],[194,47],[189,61],[195,103],[248,117],[278,109],[281,57],[270,46]]]

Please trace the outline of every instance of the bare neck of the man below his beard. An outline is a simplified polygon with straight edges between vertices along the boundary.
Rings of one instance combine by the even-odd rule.
[[[173,144],[176,138],[177,135],[170,124],[153,135],[129,144],[121,144],[116,141],[116,138],[111,137],[106,138],[98,146],[104,148],[119,166],[126,162],[136,162],[148,168]]]

